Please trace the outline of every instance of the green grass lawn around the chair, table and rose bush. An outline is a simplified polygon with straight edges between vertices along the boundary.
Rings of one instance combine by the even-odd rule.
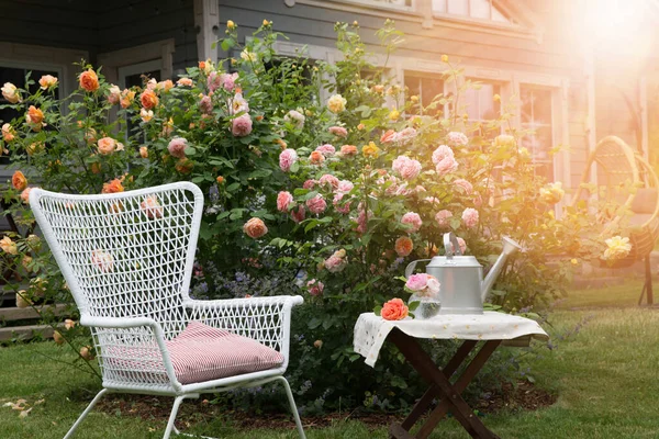
[[[625,288],[634,289],[627,293]],[[637,297],[635,285],[619,290],[581,291],[569,307],[615,303]],[[590,301],[592,300],[592,301]],[[635,302],[629,303],[629,305]],[[580,327],[578,331],[576,328]],[[501,413],[484,423],[502,438],[659,438],[659,309],[604,307],[559,309],[547,329],[556,345],[529,359],[537,384],[556,392],[555,405],[536,412]],[[56,360],[69,356],[53,342],[0,348],[0,438],[62,438],[96,392],[93,380]],[[365,365],[365,373],[370,369]],[[29,416],[2,407],[24,398],[35,405]],[[190,410],[181,416],[192,420]],[[294,426],[281,430],[245,430],[225,418],[191,423],[191,431],[222,438],[295,438]],[[92,412],[78,430],[79,438],[142,439],[161,437],[165,423],[142,420],[126,413]],[[308,428],[313,438],[387,438],[384,428],[369,429],[359,421],[336,419],[332,427]],[[432,438],[468,438],[454,419],[443,421]]]

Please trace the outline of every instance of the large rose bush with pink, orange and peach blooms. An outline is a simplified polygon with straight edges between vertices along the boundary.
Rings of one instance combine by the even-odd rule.
[[[200,61],[176,82],[147,78],[142,88],[121,90],[81,65],[79,89],[60,101],[52,93],[57,78],[41,78],[32,94],[4,85],[19,113],[0,121],[1,146],[20,169],[4,192],[9,212],[31,226],[31,184],[114,193],[190,180],[206,194],[191,294],[305,295],[293,318],[289,367],[300,405],[392,408],[411,402],[421,383],[398,351],[387,346],[376,373],[368,373],[351,349],[353,326],[360,313],[409,297],[399,279],[404,264],[436,255],[444,233],[459,235],[462,251],[485,267],[502,236],[518,240],[524,251],[507,263],[490,302],[529,316],[562,294],[571,258],[602,255],[606,246],[566,246],[581,243],[588,218],[577,210],[555,215],[561,184],[535,175],[529,153],[517,146],[523,133],[502,134],[510,105],[496,120],[469,123],[460,95],[473,85],[466,81],[455,95],[420,109],[418,97],[382,79],[384,67],[369,61],[358,31],[336,25],[343,59],[335,65],[277,55],[281,35],[267,21],[241,45],[231,22],[220,44],[241,56]],[[378,37],[391,53],[402,35],[388,21]],[[443,75],[456,81],[460,68],[443,60]],[[429,115],[444,103],[451,103],[451,114]],[[143,204],[149,216],[160,214],[156,200]],[[4,238],[3,258],[21,275],[41,280],[25,299],[66,301],[37,239]],[[619,257],[625,245],[611,241],[607,257]],[[547,255],[559,256],[548,263]],[[113,263],[107,255],[94,258],[101,268]],[[14,279],[5,281],[18,292]],[[423,286],[414,281],[414,288],[436,290],[432,280],[424,278]],[[404,316],[403,305],[395,302],[387,315]],[[63,338],[69,340],[58,333]],[[86,360],[93,357],[87,345],[80,339],[77,346],[87,349],[80,353]],[[450,346],[428,349],[442,359]],[[491,363],[482,385],[516,364],[509,352],[496,356],[505,361]]]

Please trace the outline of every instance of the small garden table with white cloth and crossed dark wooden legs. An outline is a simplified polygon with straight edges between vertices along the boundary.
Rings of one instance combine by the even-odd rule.
[[[439,369],[421,347],[417,338],[463,340],[446,365]],[[406,318],[384,320],[373,313],[359,316],[355,325],[355,351],[365,357],[366,364],[373,367],[386,340],[391,340],[407,362],[429,383],[402,423],[393,423],[389,434],[396,439],[427,438],[437,424],[451,413],[472,438],[498,439],[473,414],[461,394],[476,374],[502,344],[528,346],[532,338],[547,340],[547,333],[534,320],[502,313],[484,312],[478,315],[444,314],[426,320]],[[470,353],[482,340],[482,347],[468,361]],[[468,364],[467,364],[468,362]],[[454,378],[465,364],[463,372]],[[453,383],[451,383],[453,379]],[[437,405],[424,420],[416,435],[410,430],[431,408]]]

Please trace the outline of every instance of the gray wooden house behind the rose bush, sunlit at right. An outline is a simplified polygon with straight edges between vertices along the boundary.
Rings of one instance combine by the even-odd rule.
[[[334,24],[358,21],[365,41],[388,18],[406,42],[388,75],[429,102],[449,92],[446,54],[482,87],[466,97],[471,120],[499,111],[493,99],[520,101],[513,124],[535,130],[524,139],[550,180],[576,187],[589,150],[615,134],[651,154],[659,75],[654,57],[654,1],[623,0],[82,0],[0,1],[0,83],[26,70],[76,86],[81,59],[102,65],[120,87],[141,74],[176,77],[199,59],[226,57],[212,43],[227,20],[249,37],[264,19],[290,40],[278,50],[336,60]],[[379,61],[383,63],[383,59]],[[2,119],[0,110],[0,120]],[[557,155],[556,145],[569,146]],[[654,158],[654,157],[652,157]],[[8,171],[4,171],[7,175]]]

